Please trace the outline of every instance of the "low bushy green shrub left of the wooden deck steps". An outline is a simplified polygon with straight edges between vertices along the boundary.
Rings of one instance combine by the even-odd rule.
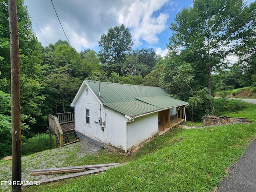
[[[52,136],[52,144],[55,144],[54,136]],[[35,134],[33,137],[28,138],[21,148],[22,155],[33,154],[46,149],[49,149],[49,134],[47,133]]]

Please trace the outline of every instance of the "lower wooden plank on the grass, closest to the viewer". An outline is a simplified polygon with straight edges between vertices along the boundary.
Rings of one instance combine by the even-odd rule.
[[[84,172],[79,172],[79,173],[59,176],[59,177],[54,177],[54,178],[42,180],[42,181],[40,181],[40,184],[55,182],[55,181],[62,180],[62,179],[68,179],[68,178],[72,178],[72,177],[78,177],[78,176],[88,175],[88,174],[97,173],[97,172],[102,172],[102,171],[106,171],[106,170],[109,170],[111,168],[114,168],[116,166],[118,166],[118,165],[109,166],[109,167],[103,167],[103,168],[99,168],[99,169],[94,169],[94,170],[90,170],[90,171],[84,171]]]

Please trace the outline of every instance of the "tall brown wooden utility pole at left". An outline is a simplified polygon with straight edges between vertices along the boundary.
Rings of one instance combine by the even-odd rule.
[[[21,191],[20,56],[16,0],[8,0],[12,96],[12,192]]]

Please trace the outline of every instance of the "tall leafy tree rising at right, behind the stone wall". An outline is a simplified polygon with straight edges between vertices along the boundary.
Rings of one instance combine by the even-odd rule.
[[[210,95],[211,73],[226,68],[226,57],[234,51],[237,40],[232,26],[236,23],[236,29],[244,27],[244,22],[236,21],[246,8],[242,0],[194,0],[193,7],[179,12],[170,26],[170,54],[174,52],[181,61],[191,64],[195,81],[201,79],[202,86],[207,84]]]

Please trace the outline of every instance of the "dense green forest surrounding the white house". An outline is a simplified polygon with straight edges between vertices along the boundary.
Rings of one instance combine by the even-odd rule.
[[[133,49],[129,28],[102,34],[99,52],[77,52],[66,40],[43,47],[24,0],[17,0],[22,142],[47,131],[48,114],[70,112],[82,81],[160,86],[189,102],[188,120],[212,113],[216,91],[256,87],[256,2],[194,0],[170,24],[163,58]],[[237,56],[231,64],[228,56]],[[10,34],[7,0],[0,2],[0,158],[11,154]]]

